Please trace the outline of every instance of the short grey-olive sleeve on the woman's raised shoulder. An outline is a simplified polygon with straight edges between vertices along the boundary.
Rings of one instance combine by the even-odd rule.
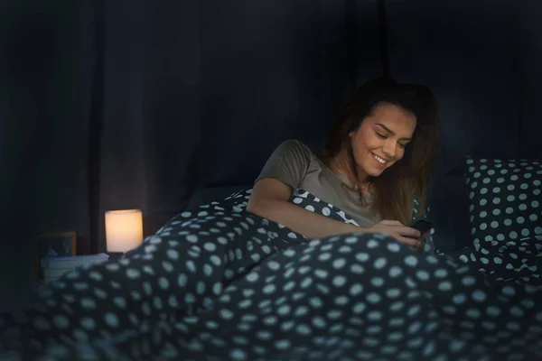
[[[303,143],[287,140],[271,154],[257,180],[273,178],[296,190],[304,180],[311,163],[311,151]]]

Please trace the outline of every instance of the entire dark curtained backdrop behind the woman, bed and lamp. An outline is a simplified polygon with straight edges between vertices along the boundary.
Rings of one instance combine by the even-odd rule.
[[[0,2],[0,308],[28,294],[37,234],[103,252],[112,208],[150,234],[285,139],[318,150],[383,74],[439,99],[435,199],[466,154],[542,157],[540,19],[538,0]]]

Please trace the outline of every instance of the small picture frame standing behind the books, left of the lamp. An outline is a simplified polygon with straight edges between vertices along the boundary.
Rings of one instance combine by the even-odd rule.
[[[36,240],[34,281],[40,282],[42,275],[42,258],[77,255],[76,232],[55,232],[38,236]]]

